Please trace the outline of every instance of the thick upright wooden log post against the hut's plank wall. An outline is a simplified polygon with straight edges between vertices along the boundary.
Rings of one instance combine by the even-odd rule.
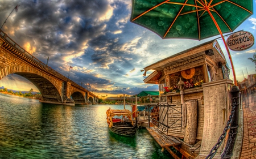
[[[185,102],[187,110],[187,124],[185,126],[184,142],[190,145],[196,143],[197,130],[197,101],[190,100]]]

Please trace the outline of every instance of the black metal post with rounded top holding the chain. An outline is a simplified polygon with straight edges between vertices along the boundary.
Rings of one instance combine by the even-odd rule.
[[[238,122],[239,122],[239,92],[240,90],[236,85],[233,85],[230,93],[232,97],[232,107],[234,107],[234,116],[230,123],[230,130],[228,141],[226,143],[225,151],[222,153],[221,158],[231,158],[233,156],[234,144],[237,137]]]

